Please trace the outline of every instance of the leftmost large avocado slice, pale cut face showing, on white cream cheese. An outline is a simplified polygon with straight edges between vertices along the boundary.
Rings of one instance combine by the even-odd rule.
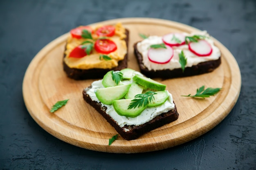
[[[95,95],[99,101],[103,104],[112,104],[114,100],[118,100],[124,97],[129,91],[131,84],[99,88],[95,90]]]

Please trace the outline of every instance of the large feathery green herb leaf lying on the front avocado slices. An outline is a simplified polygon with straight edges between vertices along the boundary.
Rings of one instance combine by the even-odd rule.
[[[153,99],[155,99],[154,95],[157,94],[153,91],[147,91],[144,94],[137,94],[135,99],[132,99],[132,102],[129,104],[128,109],[140,107],[142,104],[144,106],[148,105]]]

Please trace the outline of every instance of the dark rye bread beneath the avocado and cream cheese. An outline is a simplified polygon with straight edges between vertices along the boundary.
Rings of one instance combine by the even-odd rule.
[[[151,130],[154,130],[156,128],[159,128],[165,124],[171,123],[172,121],[175,121],[178,119],[179,114],[177,113],[177,108],[173,110],[170,110],[166,113],[162,113],[161,115],[158,115],[154,119],[148,121],[145,124],[135,126],[135,125],[125,125],[124,127],[120,127],[117,122],[112,119],[107,113],[106,113],[106,106],[101,106],[101,103],[98,103],[96,101],[92,101],[90,96],[87,94],[87,91],[90,90],[91,86],[88,88],[85,88],[83,90],[83,99],[90,104],[95,110],[97,110],[114,128],[117,130],[117,132],[126,140],[133,140],[137,139],[139,136],[143,135],[146,132],[149,132]],[[125,129],[129,129],[129,131],[126,131]]]

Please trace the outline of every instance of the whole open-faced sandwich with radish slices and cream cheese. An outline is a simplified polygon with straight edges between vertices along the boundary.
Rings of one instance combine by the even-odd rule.
[[[174,78],[199,75],[220,65],[220,50],[206,31],[149,36],[134,44],[141,73]]]

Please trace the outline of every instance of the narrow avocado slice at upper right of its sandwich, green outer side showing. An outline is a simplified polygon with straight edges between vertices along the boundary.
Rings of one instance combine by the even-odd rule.
[[[135,75],[134,77],[132,77],[132,79],[141,86],[144,86],[145,88],[154,89],[156,91],[164,91],[166,88],[166,85],[141,75]]]

